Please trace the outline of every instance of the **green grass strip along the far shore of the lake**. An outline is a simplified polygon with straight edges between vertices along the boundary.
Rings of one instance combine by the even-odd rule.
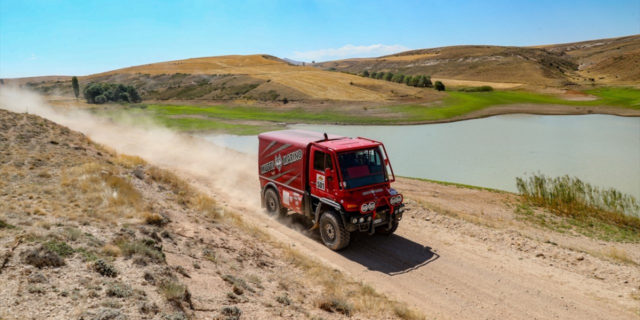
[[[515,91],[447,92],[449,97],[435,106],[406,104],[367,107],[365,109],[267,108],[264,106],[189,106],[163,104],[125,105],[121,109],[93,109],[116,122],[136,125],[162,125],[176,131],[209,131],[250,135],[284,129],[285,124],[394,125],[447,120],[505,104],[555,104],[567,107],[609,106],[640,110],[640,90],[635,88],[598,88],[586,91],[596,95],[592,101],[560,99],[556,95]],[[143,107],[143,108],[142,108]],[[525,112],[526,110],[523,110]],[[390,117],[389,114],[394,116]],[[247,122],[267,122],[264,125]],[[271,124],[269,124],[271,123]]]

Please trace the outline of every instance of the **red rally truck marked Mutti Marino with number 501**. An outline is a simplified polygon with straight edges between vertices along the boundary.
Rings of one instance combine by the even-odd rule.
[[[259,134],[261,204],[270,215],[302,214],[340,250],[351,232],[394,233],[403,196],[379,141],[304,130]]]

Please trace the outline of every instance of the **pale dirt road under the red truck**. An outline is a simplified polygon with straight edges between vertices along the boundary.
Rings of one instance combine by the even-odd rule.
[[[194,177],[193,182],[211,189],[204,180]],[[401,180],[398,187],[415,184],[433,192],[459,192],[454,187],[410,180]],[[488,191],[465,192],[492,200],[504,197]],[[294,217],[271,220],[251,206],[230,205],[285,243],[437,319],[637,319],[634,312],[639,302],[629,296],[638,289],[637,268],[571,250],[542,248],[544,243],[513,230],[478,227],[413,203],[396,235],[357,234],[348,248],[332,252],[317,233],[306,231],[308,223]],[[529,250],[523,248],[525,242]],[[537,246],[541,248],[531,249]],[[572,264],[588,266],[572,268]],[[582,272],[585,267],[591,271],[603,268],[605,273],[620,273],[627,279],[586,275]]]

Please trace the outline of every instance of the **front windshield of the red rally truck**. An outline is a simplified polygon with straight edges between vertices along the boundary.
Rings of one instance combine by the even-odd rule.
[[[345,189],[360,188],[388,180],[378,148],[338,154],[338,163],[344,177]]]

